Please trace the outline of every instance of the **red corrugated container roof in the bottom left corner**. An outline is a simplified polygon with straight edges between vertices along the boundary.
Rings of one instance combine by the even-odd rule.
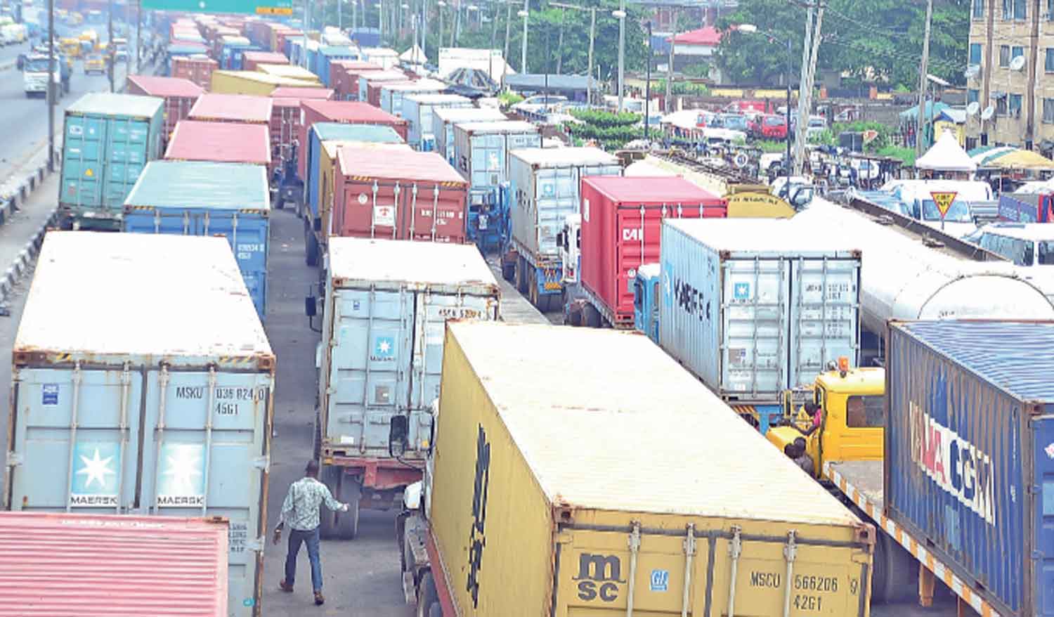
[[[227,617],[228,525],[0,513],[0,616]]]

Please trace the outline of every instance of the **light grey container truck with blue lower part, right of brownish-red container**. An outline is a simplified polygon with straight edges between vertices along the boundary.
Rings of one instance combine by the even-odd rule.
[[[538,127],[521,120],[454,124],[454,168],[469,181],[469,239],[484,253],[509,235],[509,152],[541,148]]]

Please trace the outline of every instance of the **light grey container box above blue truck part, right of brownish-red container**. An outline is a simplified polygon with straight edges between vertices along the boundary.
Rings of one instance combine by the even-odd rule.
[[[541,148],[538,127],[521,120],[454,124],[454,169],[470,189],[496,189],[508,178],[510,150]]]

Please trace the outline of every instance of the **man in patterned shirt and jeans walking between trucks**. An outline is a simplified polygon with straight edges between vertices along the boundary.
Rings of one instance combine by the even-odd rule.
[[[274,543],[281,539],[281,529],[289,523],[289,547],[286,553],[286,578],[278,587],[287,593],[293,592],[296,579],[296,555],[300,552],[300,542],[308,545],[308,559],[311,561],[311,586],[315,591],[315,604],[326,601],[323,598],[323,563],[318,557],[318,508],[321,504],[332,510],[348,512],[348,504],[333,499],[329,488],[318,481],[318,462],[308,461],[304,469],[304,478],[293,482],[281,504],[281,518],[274,528]]]

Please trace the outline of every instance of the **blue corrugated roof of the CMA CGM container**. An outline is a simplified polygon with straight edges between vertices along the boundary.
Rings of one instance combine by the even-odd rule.
[[[1027,401],[1054,403],[1054,322],[894,323],[982,380]]]

